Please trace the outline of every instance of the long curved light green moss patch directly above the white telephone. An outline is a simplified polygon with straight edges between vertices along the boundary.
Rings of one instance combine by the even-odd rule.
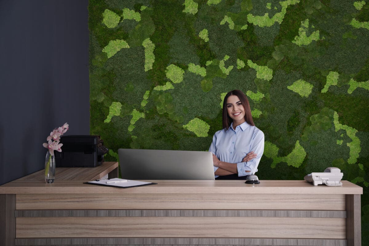
[[[347,143],[346,145],[350,148],[350,157],[347,160],[347,162],[349,164],[353,164],[356,163],[357,159],[359,158],[359,153],[361,151],[361,147],[360,147],[360,139],[356,136],[356,132],[358,132],[358,130],[349,127],[348,125],[342,125],[339,123],[338,121],[338,114],[337,112],[334,112],[334,127],[336,129],[336,132],[338,132],[339,130],[345,130],[346,134],[349,138],[352,139],[352,142]]]

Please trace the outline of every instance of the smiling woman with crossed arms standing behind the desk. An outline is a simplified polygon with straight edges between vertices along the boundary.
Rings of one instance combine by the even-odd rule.
[[[215,132],[209,151],[216,179],[245,179],[258,171],[264,134],[255,127],[249,101],[241,90],[225,95],[223,129]]]

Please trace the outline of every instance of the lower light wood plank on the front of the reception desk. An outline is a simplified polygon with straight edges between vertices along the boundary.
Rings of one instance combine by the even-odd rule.
[[[17,218],[17,238],[184,237],[345,239],[344,218]]]

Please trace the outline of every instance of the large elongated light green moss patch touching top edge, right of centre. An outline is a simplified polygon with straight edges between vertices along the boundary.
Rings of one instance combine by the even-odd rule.
[[[275,22],[278,22],[279,24],[281,24],[283,21],[284,15],[287,13],[286,11],[287,7],[289,5],[294,5],[297,3],[300,3],[300,1],[299,0],[281,1],[279,2],[279,4],[282,6],[281,11],[273,15],[272,18],[269,18],[269,13],[265,13],[263,16],[259,16],[259,15],[254,16],[253,14],[248,14],[247,21],[254,25],[258,25],[259,27],[271,27]]]

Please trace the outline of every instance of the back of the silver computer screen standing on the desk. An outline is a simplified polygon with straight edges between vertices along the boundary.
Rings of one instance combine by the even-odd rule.
[[[214,180],[211,152],[118,149],[118,154],[123,179]]]

